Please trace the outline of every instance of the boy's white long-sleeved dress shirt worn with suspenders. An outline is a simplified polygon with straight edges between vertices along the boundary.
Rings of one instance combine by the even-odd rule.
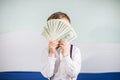
[[[70,46],[69,46],[70,47]],[[70,48],[69,48],[70,52]],[[63,57],[60,50],[55,57],[49,57],[47,53],[43,53],[43,67],[41,73],[44,77],[51,80],[76,80],[81,69],[81,53],[79,48],[73,46],[72,59],[70,53]]]

